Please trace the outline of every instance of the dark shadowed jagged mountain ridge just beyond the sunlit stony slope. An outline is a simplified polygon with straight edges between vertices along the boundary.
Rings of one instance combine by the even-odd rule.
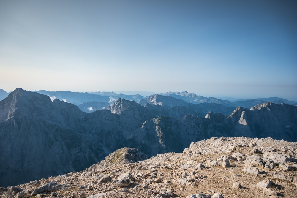
[[[86,102],[100,96],[58,93],[50,97]],[[199,103],[185,92],[164,95],[139,103],[119,98],[103,110],[85,113],[69,102],[17,88],[0,101],[0,186],[84,170],[123,147],[154,156],[181,152],[191,142],[213,136],[297,141],[297,106],[265,102],[246,109]],[[110,102],[110,97],[100,97]]]

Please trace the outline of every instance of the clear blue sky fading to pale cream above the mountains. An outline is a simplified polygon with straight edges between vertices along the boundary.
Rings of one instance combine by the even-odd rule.
[[[0,88],[297,101],[297,1],[0,0]]]

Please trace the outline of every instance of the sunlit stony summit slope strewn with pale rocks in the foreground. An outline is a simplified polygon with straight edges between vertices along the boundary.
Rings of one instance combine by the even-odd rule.
[[[0,188],[0,197],[296,197],[297,143],[212,137],[148,158],[122,148],[83,172]]]

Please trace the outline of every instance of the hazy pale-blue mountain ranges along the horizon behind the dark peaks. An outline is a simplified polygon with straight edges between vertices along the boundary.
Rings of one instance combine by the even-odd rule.
[[[203,97],[197,96],[194,93],[189,93],[187,91],[183,92],[165,92],[161,94],[153,94],[147,97],[141,96],[139,94],[126,95],[126,94],[116,94],[115,92],[71,92],[71,91],[34,91],[40,94],[50,96],[52,100],[59,99],[65,102],[70,102],[77,105],[80,110],[91,113],[96,110],[106,109],[110,104],[115,102],[118,98],[126,100],[134,100],[144,105],[145,101],[149,98],[154,97],[155,95],[170,96],[176,99],[184,100],[187,103],[200,104],[200,103],[216,103],[222,104],[226,107],[244,107],[251,108],[257,104],[262,104],[264,102],[272,102],[275,104],[290,104],[297,105],[297,102],[289,101],[287,99],[271,97],[271,98],[257,98],[257,99],[239,99],[233,102],[229,100],[217,99],[214,97]],[[8,96],[9,93],[0,89],[0,100],[3,100]]]

